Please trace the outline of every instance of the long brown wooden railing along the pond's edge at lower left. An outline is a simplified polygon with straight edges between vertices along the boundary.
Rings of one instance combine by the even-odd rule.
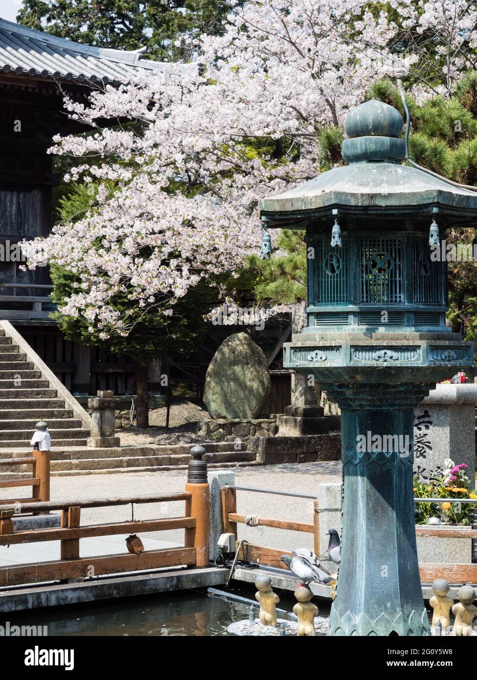
[[[194,485],[188,484],[188,487]],[[128,498],[98,498],[93,500],[63,500],[49,503],[24,503],[22,511],[61,511],[61,526],[58,528],[32,529],[14,532],[12,517],[15,506],[6,505],[0,510],[0,546],[22,543],[60,541],[61,559],[33,564],[12,564],[0,567],[0,586],[14,586],[23,583],[58,581],[86,578],[105,574],[151,570],[167,566],[205,566],[209,562],[209,514],[198,513],[205,502],[209,503],[208,485],[197,484],[195,488],[180,493],[157,494],[152,496],[131,496]],[[207,486],[204,493],[204,487]],[[81,510],[136,503],[164,503],[185,501],[184,515],[163,517],[152,520],[129,520],[81,526]],[[207,505],[208,507],[208,505]],[[176,548],[144,550],[135,553],[114,554],[98,557],[80,557],[80,540],[136,534],[150,531],[184,529],[184,545]]]

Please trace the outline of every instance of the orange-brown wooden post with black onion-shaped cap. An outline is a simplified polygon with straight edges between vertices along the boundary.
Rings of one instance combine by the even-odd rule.
[[[195,517],[195,527],[185,530],[186,547],[195,547],[195,566],[209,565],[210,487],[207,481],[207,463],[202,460],[205,449],[193,446],[189,452],[193,460],[188,463],[185,490],[192,494],[186,500],[186,516]]]

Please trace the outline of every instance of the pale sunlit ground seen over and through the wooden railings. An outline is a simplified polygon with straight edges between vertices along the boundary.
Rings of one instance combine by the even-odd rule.
[[[322,481],[341,480],[340,462],[259,466],[253,469],[235,468],[233,472],[237,486],[276,489],[303,494],[316,494],[318,483]],[[86,498],[175,492],[184,489],[185,481],[186,473],[184,471],[53,477],[51,500],[66,498],[71,501],[85,500]],[[1,489],[0,498],[14,498],[20,495],[18,492],[18,488]],[[27,495],[27,492],[24,495]],[[237,511],[244,515],[257,514],[282,520],[313,521],[313,501],[288,496],[238,491]],[[183,502],[135,505],[133,513],[135,519],[138,520],[174,517],[182,515]],[[129,519],[131,519],[130,505],[82,510],[82,524],[120,522]],[[242,538],[243,531],[244,525],[240,525],[239,538]],[[168,545],[183,545],[183,535],[183,530],[174,530],[144,534],[141,538],[146,549],[152,549],[167,547]],[[125,536],[116,536],[104,539],[82,539],[80,541],[81,556],[123,552],[125,551],[125,538]],[[299,546],[312,547],[313,545],[312,534],[281,531],[269,527],[247,528],[246,538],[250,542],[278,549],[293,549]],[[12,545],[8,548],[0,546],[0,565],[55,560],[59,558],[59,549],[59,541],[44,544]]]

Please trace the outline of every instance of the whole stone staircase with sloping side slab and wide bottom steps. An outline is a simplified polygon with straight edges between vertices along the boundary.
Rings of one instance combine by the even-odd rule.
[[[30,440],[39,420],[48,423],[51,435],[52,477],[180,470],[191,459],[190,444],[88,447],[89,415],[16,328],[0,320],[0,460],[31,455]],[[212,468],[258,464],[254,451],[231,447],[229,442],[205,444],[204,459]],[[0,481],[28,477],[29,466],[0,468]]]

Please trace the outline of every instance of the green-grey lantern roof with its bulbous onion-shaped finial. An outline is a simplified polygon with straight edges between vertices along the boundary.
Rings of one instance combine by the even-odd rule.
[[[346,118],[342,156],[348,165],[335,167],[277,196],[261,199],[259,210],[273,226],[284,213],[403,214],[438,207],[444,214],[477,216],[477,192],[408,165],[402,118],[397,109],[375,99],[352,109]],[[280,216],[278,214],[281,214]],[[281,218],[281,219],[280,219]],[[278,226],[278,225],[277,225]]]

